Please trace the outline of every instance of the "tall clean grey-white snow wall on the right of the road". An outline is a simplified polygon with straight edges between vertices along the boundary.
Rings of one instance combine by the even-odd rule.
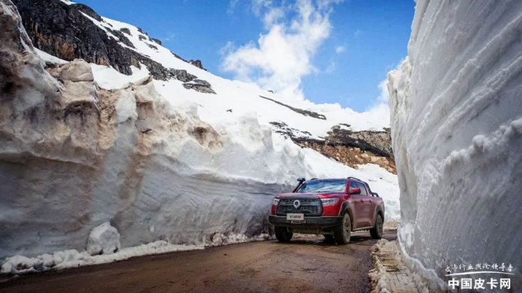
[[[418,1],[388,74],[400,244],[435,287],[448,266],[510,264],[522,290],[521,40],[522,1]]]

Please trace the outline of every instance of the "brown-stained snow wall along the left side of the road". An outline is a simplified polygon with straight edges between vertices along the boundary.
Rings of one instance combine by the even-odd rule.
[[[268,233],[271,199],[311,176],[303,152],[244,117],[240,142],[173,108],[152,78],[103,90],[74,60],[47,73],[10,1],[0,1],[0,259]]]

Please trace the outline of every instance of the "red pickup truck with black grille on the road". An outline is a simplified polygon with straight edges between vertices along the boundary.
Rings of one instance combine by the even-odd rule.
[[[358,178],[317,179],[299,184],[291,193],[274,198],[269,221],[276,238],[289,242],[294,233],[322,234],[338,244],[348,244],[351,232],[370,230],[381,239],[384,202]]]

